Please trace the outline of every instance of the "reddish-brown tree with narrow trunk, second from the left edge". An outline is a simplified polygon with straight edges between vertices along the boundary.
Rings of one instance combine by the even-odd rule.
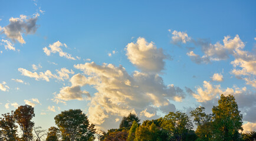
[[[14,112],[14,119],[22,130],[22,140],[24,141],[32,140],[33,138],[34,122],[31,120],[34,116],[34,108],[30,105],[19,106]]]

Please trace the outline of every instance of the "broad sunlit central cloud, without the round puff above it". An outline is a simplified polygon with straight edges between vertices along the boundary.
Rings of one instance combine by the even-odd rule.
[[[59,98],[79,100],[82,98],[80,87],[93,86],[97,92],[90,98],[88,118],[96,125],[103,124],[107,117],[127,116],[130,112],[140,113],[149,106],[159,109],[162,106],[172,105],[169,99],[184,98],[182,89],[174,85],[165,85],[163,79],[156,73],[134,71],[129,75],[121,65],[119,67],[107,63],[97,65],[94,62],[77,64],[74,68],[82,70],[84,75],[80,73],[74,75],[70,79],[72,86],[61,89],[65,90],[65,93],[60,91],[64,93],[63,95],[68,93],[64,96],[68,99]],[[77,88],[76,93],[72,93],[74,98],[70,98],[71,88]]]

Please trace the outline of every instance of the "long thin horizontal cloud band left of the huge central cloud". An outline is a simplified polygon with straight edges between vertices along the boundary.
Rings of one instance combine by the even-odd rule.
[[[35,80],[46,80],[47,82],[50,81],[50,78],[55,78],[58,80],[64,80],[68,79],[68,74],[73,74],[73,70],[68,70],[66,68],[61,68],[61,70],[56,70],[58,75],[52,74],[50,70],[46,70],[45,72],[31,72],[24,68],[18,68],[19,72],[21,72],[21,75],[28,76],[29,78],[35,78]]]

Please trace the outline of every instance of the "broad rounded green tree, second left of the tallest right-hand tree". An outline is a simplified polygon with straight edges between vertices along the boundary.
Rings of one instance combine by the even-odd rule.
[[[191,119],[186,115],[186,113],[170,112],[161,120],[161,127],[168,130],[170,137],[178,141],[185,140],[189,130],[193,127]]]

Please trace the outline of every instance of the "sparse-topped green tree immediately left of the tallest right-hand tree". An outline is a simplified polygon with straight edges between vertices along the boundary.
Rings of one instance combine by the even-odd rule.
[[[198,107],[192,110],[191,116],[194,118],[196,126],[196,135],[198,136],[198,141],[207,141],[212,139],[212,115],[206,114],[204,107]]]

